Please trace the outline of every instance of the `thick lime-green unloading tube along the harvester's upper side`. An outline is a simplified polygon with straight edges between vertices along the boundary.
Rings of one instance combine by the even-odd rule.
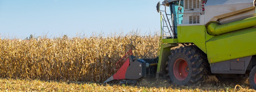
[[[211,36],[216,36],[223,33],[228,33],[253,26],[256,26],[256,16],[226,24],[220,24],[216,21],[212,21],[206,24],[207,33]]]

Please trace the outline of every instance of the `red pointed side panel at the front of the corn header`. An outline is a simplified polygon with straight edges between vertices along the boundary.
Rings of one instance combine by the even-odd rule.
[[[122,65],[122,67],[113,75],[114,79],[125,79],[125,73],[127,70],[127,67],[129,67],[130,61],[129,58],[126,59],[125,63]]]

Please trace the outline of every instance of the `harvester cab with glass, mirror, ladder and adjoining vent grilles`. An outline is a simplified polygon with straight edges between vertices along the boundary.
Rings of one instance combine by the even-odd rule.
[[[161,15],[162,38],[178,38],[179,25],[200,25],[200,15],[204,13],[206,2],[207,0],[165,0],[162,3],[158,2],[156,7]],[[164,6],[164,10],[160,10],[160,6]]]

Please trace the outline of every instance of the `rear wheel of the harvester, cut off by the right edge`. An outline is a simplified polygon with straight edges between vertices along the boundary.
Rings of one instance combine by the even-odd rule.
[[[249,75],[249,82],[251,87],[256,90],[256,66],[254,66]]]

